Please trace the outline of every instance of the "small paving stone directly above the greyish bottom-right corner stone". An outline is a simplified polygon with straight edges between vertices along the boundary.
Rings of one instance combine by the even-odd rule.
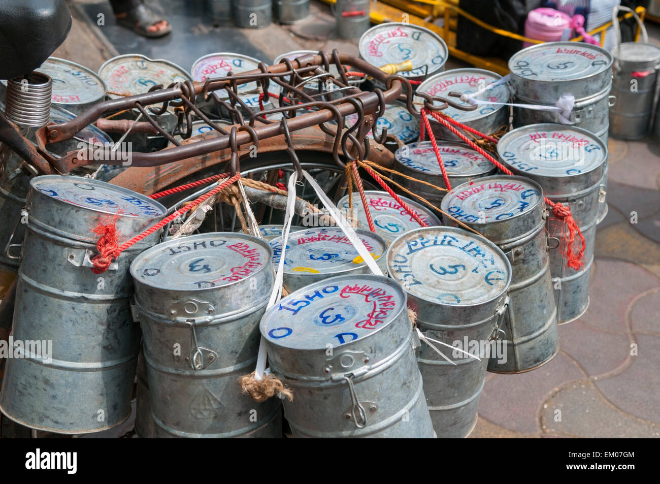
[[[628,359],[628,335],[608,333],[581,321],[559,326],[559,345],[589,376],[609,373]]]

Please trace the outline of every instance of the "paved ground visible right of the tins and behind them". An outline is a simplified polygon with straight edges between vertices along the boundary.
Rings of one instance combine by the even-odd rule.
[[[229,30],[269,59],[298,49],[357,52],[350,42],[327,39],[333,20],[326,5],[313,2],[312,12],[311,20],[292,27]],[[116,52],[76,9],[74,20],[55,55],[96,71]],[[113,23],[109,18],[102,28],[118,28]],[[214,32],[205,24],[190,28],[193,34],[195,28],[204,35]],[[660,28],[648,28],[660,44]],[[218,36],[215,52],[223,45]],[[193,44],[189,49],[191,62],[214,52],[196,55]],[[461,65],[450,59],[447,68]],[[560,351],[545,366],[487,375],[473,438],[660,436],[660,142],[610,139],[609,153],[609,214],[598,226],[589,310],[560,326]]]

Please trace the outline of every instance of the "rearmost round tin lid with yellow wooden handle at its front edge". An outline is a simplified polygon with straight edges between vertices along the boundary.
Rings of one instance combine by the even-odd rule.
[[[376,67],[411,61],[413,70],[399,73],[411,81],[423,81],[444,71],[449,57],[447,44],[438,34],[403,22],[387,22],[370,28],[360,37],[358,49],[360,57]]]

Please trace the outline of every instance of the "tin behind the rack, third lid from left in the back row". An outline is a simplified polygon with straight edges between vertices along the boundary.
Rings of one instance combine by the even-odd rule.
[[[195,81],[206,81],[207,78],[215,77],[225,77],[230,71],[234,74],[244,73],[246,71],[253,71],[259,69],[259,60],[254,57],[249,57],[248,55],[242,55],[240,53],[232,52],[216,52],[209,53],[199,57],[195,62],[193,62],[193,67],[190,71]],[[259,92],[257,90],[257,83],[243,83],[236,86],[240,99],[251,109],[258,111],[259,110]],[[271,83],[269,87],[269,92],[273,94],[279,94],[280,88],[277,84]],[[218,89],[215,91],[218,97],[226,102],[229,102],[229,94],[226,90]],[[199,98],[199,96],[198,96]],[[213,101],[203,102],[199,100],[197,104],[203,106],[211,112],[215,112],[220,117],[227,117],[226,112],[216,111],[215,103]],[[241,108],[237,104],[237,107]],[[271,109],[275,106],[271,100],[263,103],[264,109]],[[245,111],[245,110],[243,110]]]

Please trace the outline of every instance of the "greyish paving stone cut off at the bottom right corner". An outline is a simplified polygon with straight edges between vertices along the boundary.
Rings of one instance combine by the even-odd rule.
[[[561,421],[555,421],[556,418]],[[660,425],[626,415],[607,403],[588,382],[565,386],[549,398],[541,410],[541,425],[544,432],[564,432],[579,437],[660,437]]]

